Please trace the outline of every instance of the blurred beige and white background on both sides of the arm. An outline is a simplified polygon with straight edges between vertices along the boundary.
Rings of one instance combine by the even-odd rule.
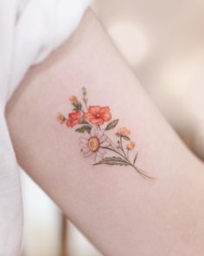
[[[196,154],[204,156],[204,1],[98,0],[92,8],[138,80]],[[22,172],[23,256],[101,255]],[[62,229],[62,231],[61,231]]]

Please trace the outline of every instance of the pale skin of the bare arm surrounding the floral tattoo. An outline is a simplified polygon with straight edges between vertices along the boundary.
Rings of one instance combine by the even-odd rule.
[[[137,47],[137,45],[136,45]],[[110,106],[131,129],[137,166],[92,166],[79,134],[56,121],[86,86],[91,105]],[[30,69],[7,109],[22,168],[104,255],[203,255],[203,165],[154,107],[111,40],[87,10],[80,27]]]

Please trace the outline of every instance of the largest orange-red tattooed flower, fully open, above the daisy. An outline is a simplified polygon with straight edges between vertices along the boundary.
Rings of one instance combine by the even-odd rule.
[[[93,125],[101,125],[112,118],[109,107],[90,106],[83,117]]]

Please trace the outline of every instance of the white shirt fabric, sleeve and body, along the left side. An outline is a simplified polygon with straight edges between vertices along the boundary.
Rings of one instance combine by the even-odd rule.
[[[0,256],[20,255],[22,198],[4,107],[29,67],[41,62],[80,23],[90,0],[1,0]]]

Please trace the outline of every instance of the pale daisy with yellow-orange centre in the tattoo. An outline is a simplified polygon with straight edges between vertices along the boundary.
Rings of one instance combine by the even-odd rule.
[[[104,157],[106,150],[103,147],[110,145],[104,132],[104,130],[99,130],[96,126],[92,127],[90,134],[84,132],[83,137],[80,137],[81,152],[84,156],[92,156],[93,161],[95,161],[97,157]]]

